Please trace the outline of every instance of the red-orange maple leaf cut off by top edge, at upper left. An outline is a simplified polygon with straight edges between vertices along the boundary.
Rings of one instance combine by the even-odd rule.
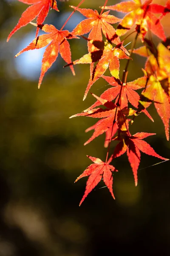
[[[23,12],[17,25],[8,35],[7,42],[18,29],[20,29],[23,26],[26,26],[29,22],[34,20],[36,17],[37,17],[37,24],[42,24],[48,15],[48,11],[50,7],[51,9],[54,9],[59,12],[57,8],[56,0],[19,0],[19,1],[26,4],[30,4],[31,6],[29,6],[25,12]],[[37,26],[37,31],[35,35],[36,37],[38,35],[39,29],[40,28]]]

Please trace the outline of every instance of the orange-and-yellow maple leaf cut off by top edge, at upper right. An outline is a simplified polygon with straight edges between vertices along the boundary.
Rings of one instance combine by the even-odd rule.
[[[124,35],[133,24],[137,25],[137,31],[140,31],[142,38],[147,33],[147,26],[163,41],[166,40],[163,26],[155,14],[164,13],[164,6],[151,4],[152,0],[146,0],[143,4],[141,0],[121,2],[113,6],[102,6],[102,9],[110,9],[117,12],[125,12],[127,15],[119,23],[116,34]]]

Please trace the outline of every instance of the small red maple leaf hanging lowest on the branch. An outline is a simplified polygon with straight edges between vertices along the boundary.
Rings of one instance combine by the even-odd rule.
[[[82,197],[82,200],[80,201],[79,206],[82,204],[82,202],[85,200],[87,195],[95,188],[95,186],[102,180],[105,183],[105,185],[108,187],[109,191],[111,192],[112,197],[115,199],[113,195],[113,172],[118,172],[114,166],[110,165],[111,162],[108,161],[107,163],[104,163],[102,160],[96,157],[90,157],[90,160],[94,163],[92,163],[88,168],[85,169],[85,171],[77,178],[77,180],[81,179],[82,177],[89,176],[88,181],[86,183],[85,193]],[[77,182],[77,180],[75,182]]]

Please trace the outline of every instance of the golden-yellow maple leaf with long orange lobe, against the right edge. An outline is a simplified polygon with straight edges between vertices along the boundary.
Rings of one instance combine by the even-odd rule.
[[[157,49],[152,52],[146,46],[134,50],[134,53],[147,57],[145,70],[149,77],[147,86],[142,92],[142,96],[145,98],[142,98],[139,102],[145,108],[152,101],[154,102],[156,111],[164,123],[167,140],[169,140],[170,50],[160,43]]]

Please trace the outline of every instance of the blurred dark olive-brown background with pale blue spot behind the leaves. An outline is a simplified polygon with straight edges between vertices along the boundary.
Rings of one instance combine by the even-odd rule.
[[[60,29],[72,11],[69,4],[78,3],[58,2],[60,12],[50,11],[46,23]],[[108,5],[115,3],[110,0]],[[103,4],[86,0],[81,7],[99,10]],[[87,179],[74,180],[91,164],[86,155],[105,160],[107,152],[104,135],[83,146],[91,136],[84,131],[96,120],[68,119],[94,103],[90,93],[82,102],[89,65],[75,66],[73,77],[58,57],[38,90],[44,48],[14,58],[34,39],[35,27],[23,27],[6,43],[26,7],[17,0],[0,0],[0,256],[170,255],[169,162],[151,166],[160,160],[142,154],[135,187],[127,157],[119,157],[113,163],[119,169],[113,177],[116,200],[107,188],[101,189],[101,182],[79,207]],[[65,29],[71,31],[82,19],[75,13]],[[167,36],[169,19],[162,20]],[[72,60],[87,53],[82,38],[69,42]],[[144,61],[134,55],[128,81],[142,76]],[[124,67],[122,61],[120,72]],[[108,87],[99,79],[91,92],[99,96]],[[156,133],[147,142],[170,157],[161,119],[153,106],[149,111],[155,122],[141,114],[130,131]]]

